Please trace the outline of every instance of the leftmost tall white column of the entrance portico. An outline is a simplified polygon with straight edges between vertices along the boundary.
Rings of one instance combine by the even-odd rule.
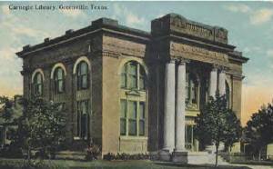
[[[176,64],[166,64],[165,108],[164,108],[164,150],[172,152],[175,148],[175,106],[176,106]]]

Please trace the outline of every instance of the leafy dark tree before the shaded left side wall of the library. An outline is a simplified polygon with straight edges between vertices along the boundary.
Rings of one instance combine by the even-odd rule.
[[[31,151],[42,153],[54,151],[65,138],[66,118],[60,104],[46,102],[42,98],[25,100],[24,113],[19,119],[17,140],[27,150],[30,161]]]

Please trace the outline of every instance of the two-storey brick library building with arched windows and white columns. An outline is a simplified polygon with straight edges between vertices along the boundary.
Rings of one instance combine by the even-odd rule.
[[[242,64],[227,30],[169,14],[151,33],[100,18],[39,45],[25,45],[24,96],[63,103],[66,138],[102,153],[197,152],[194,119],[218,90],[241,116]]]

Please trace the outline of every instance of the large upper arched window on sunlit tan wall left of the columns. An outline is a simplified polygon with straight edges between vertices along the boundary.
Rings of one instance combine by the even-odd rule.
[[[142,65],[135,61],[127,62],[121,71],[121,88],[145,90],[146,73]]]

